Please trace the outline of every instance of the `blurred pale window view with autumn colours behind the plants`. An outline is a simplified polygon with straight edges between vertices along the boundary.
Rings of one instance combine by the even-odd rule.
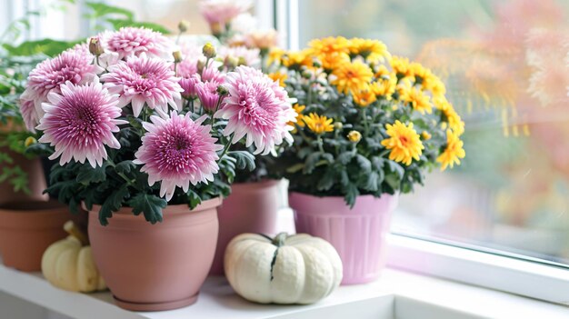
[[[139,21],[209,34],[192,0],[107,0]],[[101,25],[85,1],[0,0],[0,29],[37,11],[23,38],[76,39]],[[569,1],[257,0],[282,44],[380,39],[440,75],[466,123],[461,166],[401,197],[393,231],[569,265]]]

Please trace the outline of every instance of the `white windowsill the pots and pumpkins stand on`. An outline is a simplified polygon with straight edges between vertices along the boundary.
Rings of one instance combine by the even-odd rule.
[[[252,304],[237,296],[225,278],[208,278],[196,304],[167,312],[131,313],[116,307],[108,292],[74,294],[48,284],[40,274],[0,265],[0,290],[73,318],[567,318],[569,309],[514,294],[385,269],[371,284],[342,286],[311,305]]]

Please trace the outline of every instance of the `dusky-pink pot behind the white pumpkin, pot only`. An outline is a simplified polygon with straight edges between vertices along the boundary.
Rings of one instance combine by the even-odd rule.
[[[267,180],[231,186],[231,194],[217,209],[219,236],[210,274],[225,274],[225,248],[236,235],[276,233],[278,183]]]

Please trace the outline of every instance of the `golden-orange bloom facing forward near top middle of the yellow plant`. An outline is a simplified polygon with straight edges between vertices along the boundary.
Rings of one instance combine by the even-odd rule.
[[[372,69],[361,61],[344,63],[334,70],[333,75],[331,84],[344,94],[367,90],[374,77]]]

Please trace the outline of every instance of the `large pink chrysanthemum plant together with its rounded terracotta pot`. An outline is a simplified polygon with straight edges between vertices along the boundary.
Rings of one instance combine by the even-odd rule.
[[[235,169],[255,165],[232,146],[266,154],[292,140],[294,110],[269,77],[215,64],[212,45],[194,77],[178,76],[184,56],[173,47],[150,29],[105,32],[55,57],[67,67],[38,65],[45,76],[28,86],[38,141],[60,164],[47,191],[90,212],[95,262],[116,303],[132,310],[195,302],[214,257],[215,208]],[[260,121],[268,116],[270,125]]]

